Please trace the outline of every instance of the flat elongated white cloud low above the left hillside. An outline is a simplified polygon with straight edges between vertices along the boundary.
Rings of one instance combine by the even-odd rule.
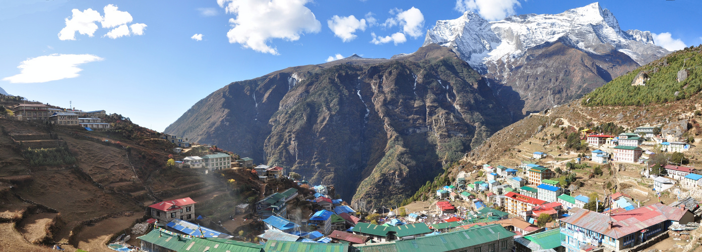
[[[51,54],[29,58],[17,67],[21,69],[20,74],[2,80],[10,83],[41,83],[75,78],[83,70],[78,65],[99,60],[103,59],[91,54]]]

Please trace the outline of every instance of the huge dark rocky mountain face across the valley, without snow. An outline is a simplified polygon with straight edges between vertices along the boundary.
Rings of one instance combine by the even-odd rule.
[[[401,201],[509,114],[466,62],[431,45],[234,82],[166,132],[333,184],[364,209]]]

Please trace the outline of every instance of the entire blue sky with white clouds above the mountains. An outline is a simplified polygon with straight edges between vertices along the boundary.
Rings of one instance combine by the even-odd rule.
[[[163,131],[233,81],[354,53],[416,51],[437,20],[562,13],[551,0],[0,0],[0,87]],[[702,1],[600,1],[669,50],[702,44]],[[72,103],[69,103],[72,102]]]

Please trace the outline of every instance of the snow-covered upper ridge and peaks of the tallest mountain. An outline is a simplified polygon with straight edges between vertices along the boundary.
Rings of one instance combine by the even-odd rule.
[[[620,51],[640,65],[669,53],[654,44],[651,32],[623,31],[614,15],[598,3],[555,15],[514,15],[495,22],[466,11],[461,18],[437,21],[424,44],[453,48],[484,73],[490,63],[517,60],[529,48],[555,41],[597,55]]]

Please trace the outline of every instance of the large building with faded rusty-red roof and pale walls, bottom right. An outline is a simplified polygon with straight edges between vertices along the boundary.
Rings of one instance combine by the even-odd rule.
[[[562,218],[565,226],[561,244],[568,252],[581,251],[581,246],[604,246],[608,251],[624,251],[663,234],[672,224],[694,221],[694,214],[684,208],[654,204],[631,211],[606,215],[574,208]]]

